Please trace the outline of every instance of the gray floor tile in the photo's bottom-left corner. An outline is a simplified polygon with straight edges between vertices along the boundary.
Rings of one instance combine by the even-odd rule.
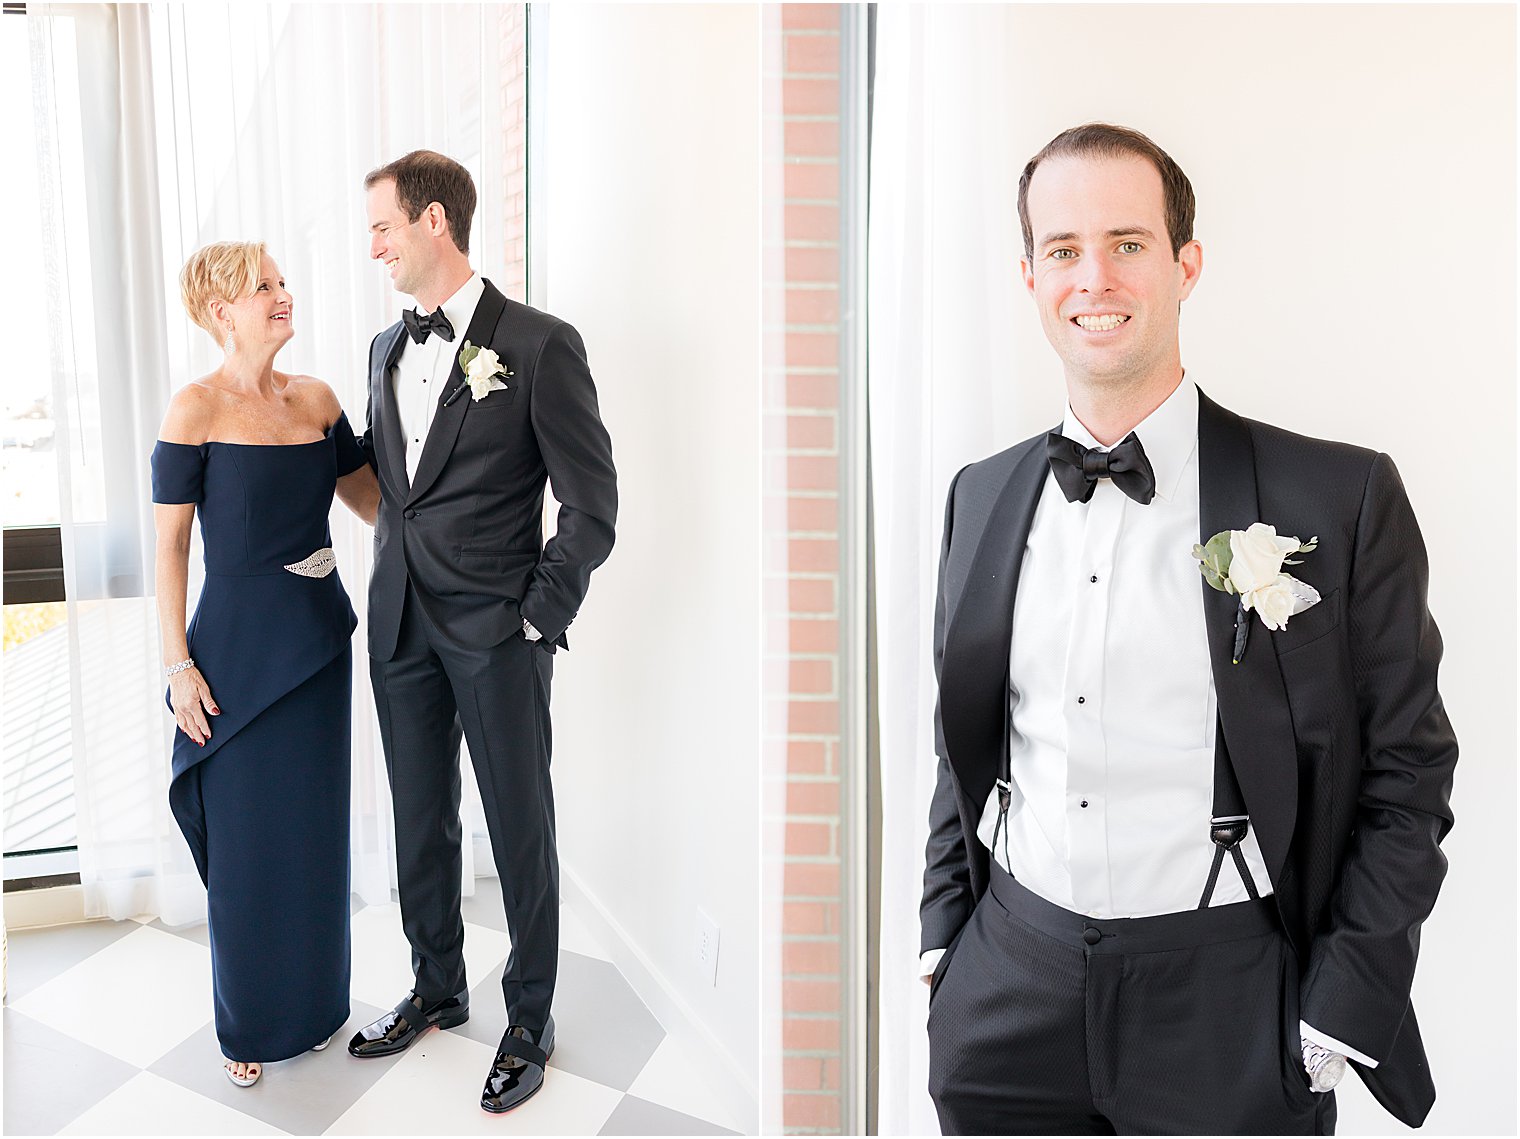
[[[56,1134],[137,1072],[125,1060],[5,1010],[6,1134]]]

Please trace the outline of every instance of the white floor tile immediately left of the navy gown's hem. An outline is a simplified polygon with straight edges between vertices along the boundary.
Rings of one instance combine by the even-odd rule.
[[[15,1008],[147,1068],[214,1016],[211,953],[182,937],[140,926],[38,985]]]

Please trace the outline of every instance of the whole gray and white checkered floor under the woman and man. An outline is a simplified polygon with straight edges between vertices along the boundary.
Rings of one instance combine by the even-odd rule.
[[[222,1075],[205,926],[90,922],[11,934],[6,1134],[734,1134],[681,1048],[585,923],[561,911],[556,1048],[543,1092],[505,1116],[479,1107],[505,1028],[511,941],[494,884],[465,899],[470,1020],[398,1057],[344,1043],[409,988],[400,908],[356,905],[348,1023],[334,1046]]]

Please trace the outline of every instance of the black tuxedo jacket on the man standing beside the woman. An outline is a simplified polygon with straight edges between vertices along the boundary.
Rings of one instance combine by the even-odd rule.
[[[496,351],[512,373],[505,391],[482,400],[461,391],[465,341]],[[500,645],[526,617],[544,648],[565,646],[617,519],[613,446],[579,335],[485,281],[470,327],[451,344],[454,366],[410,481],[391,377],[404,344],[398,321],[369,345],[362,446],[380,481],[369,655],[395,654],[407,579],[427,617],[458,645]],[[546,479],[561,503],[547,544]]]

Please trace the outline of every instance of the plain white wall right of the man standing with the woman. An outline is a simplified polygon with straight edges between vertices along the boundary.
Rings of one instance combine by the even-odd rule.
[[[544,175],[532,208],[547,211],[535,303],[585,338],[622,499],[617,546],[556,662],[559,850],[748,1083],[751,1125],[758,30],[748,5],[555,5],[530,143]],[[716,987],[692,964],[698,908],[722,928]]]

